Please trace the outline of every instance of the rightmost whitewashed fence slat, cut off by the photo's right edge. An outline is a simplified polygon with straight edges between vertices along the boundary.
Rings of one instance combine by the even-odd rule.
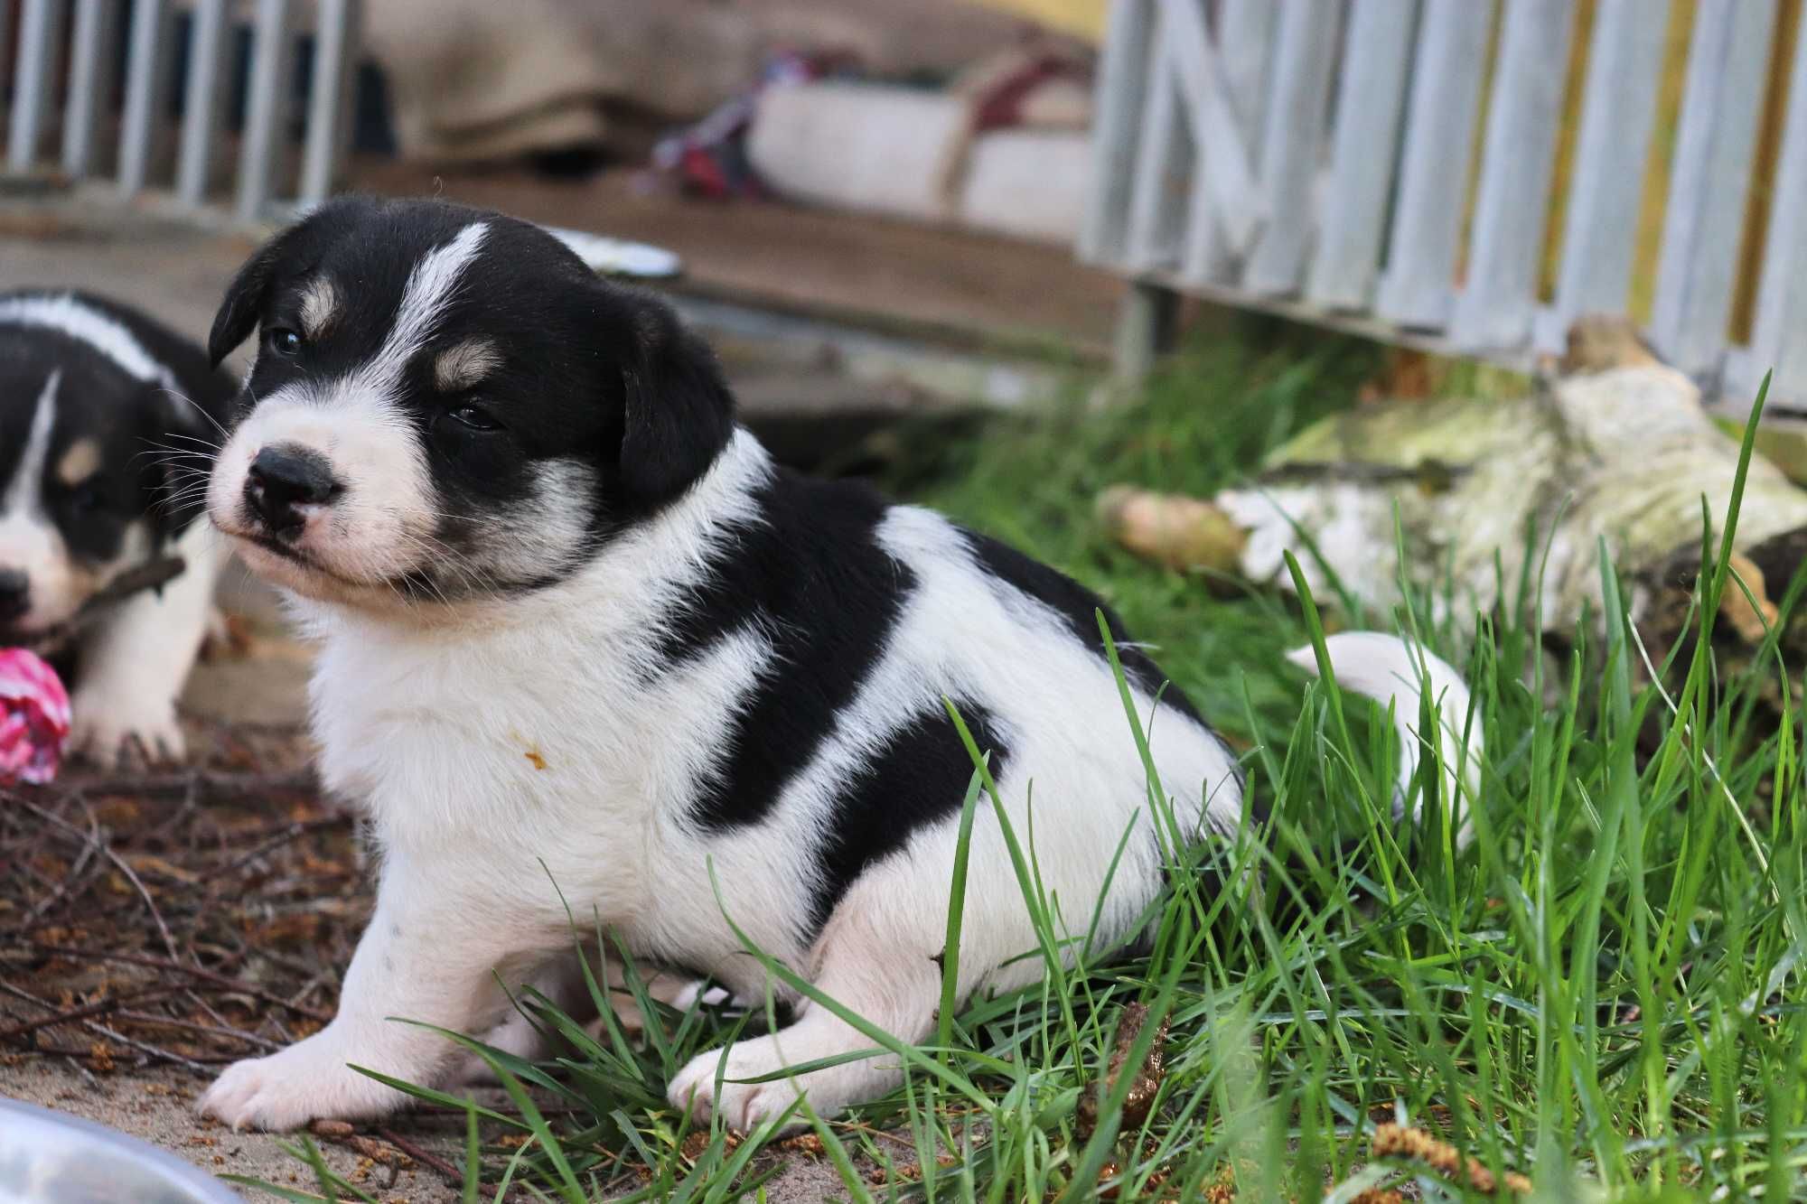
[[[1755,380],[1738,381],[1740,392],[1755,390],[1762,374],[1774,369],[1778,390],[1796,403],[1807,401],[1807,20],[1800,22],[1794,38],[1794,74],[1776,192],[1769,202],[1749,362]]]

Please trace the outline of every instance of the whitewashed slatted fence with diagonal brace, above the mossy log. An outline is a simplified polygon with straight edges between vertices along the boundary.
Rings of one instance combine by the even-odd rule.
[[[1576,316],[1632,313],[1666,34],[1688,16],[1592,0],[1576,45],[1581,4],[1115,0],[1082,257],[1133,277],[1144,315],[1176,289],[1518,363],[1559,351]],[[1807,403],[1807,20],[1782,45],[1780,13],[1693,4],[1646,333],[1709,387],[1749,401],[1774,367],[1776,394]],[[1793,87],[1767,159],[1773,61]]]

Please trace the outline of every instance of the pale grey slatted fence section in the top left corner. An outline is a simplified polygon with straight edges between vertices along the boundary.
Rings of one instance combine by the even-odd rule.
[[[11,61],[5,168],[92,179],[107,166],[123,195],[170,188],[190,206],[213,202],[222,177],[233,212],[264,217],[278,201],[329,195],[349,137],[358,0],[255,0],[242,114],[233,94],[231,0],[193,0],[188,14],[181,128],[175,7],[170,0],[0,0],[0,63]],[[296,96],[300,18],[311,16],[305,99]],[[16,45],[5,38],[16,31]],[[121,38],[125,38],[121,45]],[[237,157],[222,141],[239,116]],[[289,132],[300,123],[296,148]],[[107,145],[110,139],[112,146]],[[220,197],[224,199],[224,197]]]

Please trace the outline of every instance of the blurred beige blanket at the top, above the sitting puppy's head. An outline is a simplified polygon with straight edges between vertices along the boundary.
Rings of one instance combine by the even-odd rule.
[[[846,49],[882,74],[952,71],[1025,25],[969,0],[365,0],[363,36],[401,154],[472,163],[694,119],[782,49]]]

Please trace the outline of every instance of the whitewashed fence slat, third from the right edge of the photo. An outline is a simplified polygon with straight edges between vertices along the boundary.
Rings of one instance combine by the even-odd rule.
[[[1558,340],[1581,315],[1624,311],[1670,18],[1670,0],[1597,4],[1550,320]]]

